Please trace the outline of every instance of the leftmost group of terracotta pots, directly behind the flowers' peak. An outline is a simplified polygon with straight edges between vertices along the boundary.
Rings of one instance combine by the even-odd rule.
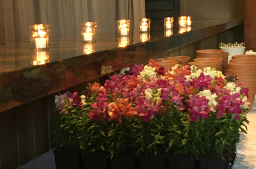
[[[175,57],[168,57],[168,58],[157,58],[154,59],[155,62],[159,63],[160,67],[164,67],[165,69],[169,70],[175,64],[186,65],[189,62],[190,57],[188,56],[175,56]]]

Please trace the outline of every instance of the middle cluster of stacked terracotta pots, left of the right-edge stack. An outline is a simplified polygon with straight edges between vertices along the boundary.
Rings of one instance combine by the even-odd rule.
[[[219,49],[203,49],[196,51],[196,59],[194,62],[189,62],[189,65],[195,65],[199,69],[204,67],[216,68],[223,70],[223,64],[227,63],[228,53]]]

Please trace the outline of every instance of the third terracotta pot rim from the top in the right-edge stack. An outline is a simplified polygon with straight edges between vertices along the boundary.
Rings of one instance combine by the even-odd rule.
[[[241,61],[241,62],[230,62],[227,64],[228,69],[232,70],[256,70],[255,62]]]

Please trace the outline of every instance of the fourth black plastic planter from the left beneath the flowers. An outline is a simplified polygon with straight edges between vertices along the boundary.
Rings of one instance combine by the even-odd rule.
[[[164,158],[160,155],[140,155],[140,169],[164,169]]]

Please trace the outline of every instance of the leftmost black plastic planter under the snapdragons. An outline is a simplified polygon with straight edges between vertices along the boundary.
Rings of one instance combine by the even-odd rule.
[[[56,147],[53,150],[55,155],[56,169],[81,169],[80,149]]]

